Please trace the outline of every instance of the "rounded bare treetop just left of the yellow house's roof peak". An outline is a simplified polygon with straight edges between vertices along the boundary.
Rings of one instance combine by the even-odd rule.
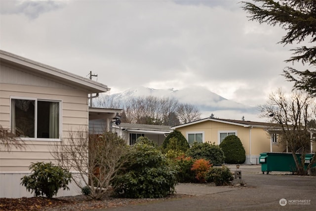
[[[178,106],[177,115],[181,124],[190,123],[201,118],[201,113],[197,107],[188,103]]]

